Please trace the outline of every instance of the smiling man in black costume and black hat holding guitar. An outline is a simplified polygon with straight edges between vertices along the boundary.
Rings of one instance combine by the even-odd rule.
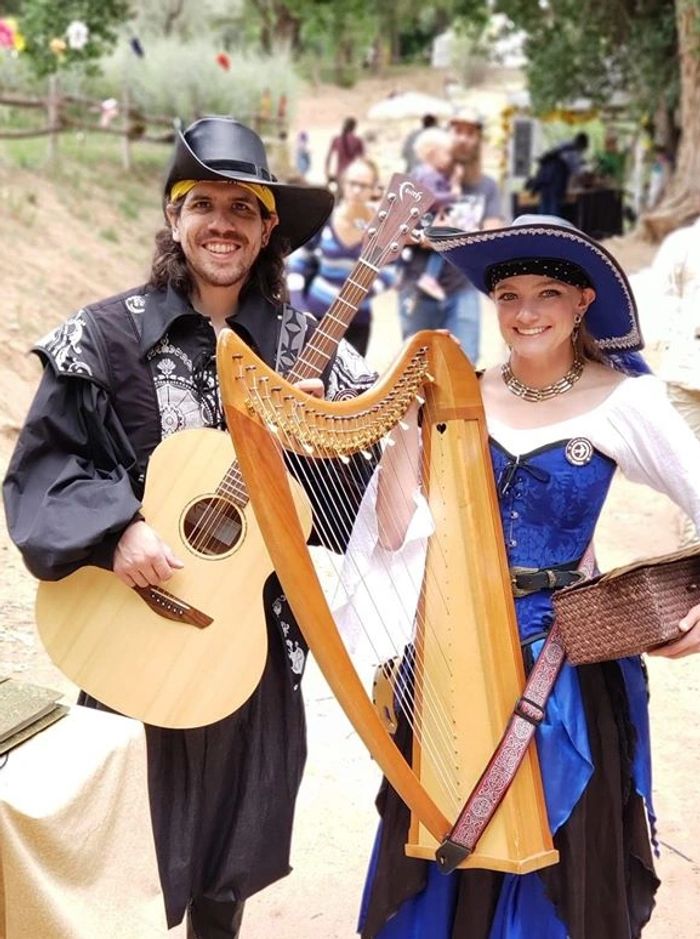
[[[148,284],[79,311],[34,350],[44,376],[4,494],[36,576],[90,564],[143,587],[187,563],[140,515],[149,456],[174,431],[223,429],[215,342],[224,326],[273,367],[292,364],[314,321],[284,303],[284,254],[332,205],[325,189],[278,182],[260,138],[236,121],[204,118],[178,135]],[[329,396],[373,380],[345,343],[323,377]],[[317,379],[306,388],[323,390]],[[187,912],[190,939],[237,936],[245,899],[289,871],[306,755],[305,646],[274,576],[264,606],[268,657],[246,704],[208,727],[146,727],[168,924]],[[124,935],[137,928],[125,923]]]

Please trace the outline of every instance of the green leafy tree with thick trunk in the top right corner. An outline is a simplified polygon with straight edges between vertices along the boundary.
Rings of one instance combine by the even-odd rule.
[[[579,96],[630,108],[674,127],[676,170],[643,220],[655,238],[700,215],[700,0],[497,0],[528,33],[532,100],[540,111]]]

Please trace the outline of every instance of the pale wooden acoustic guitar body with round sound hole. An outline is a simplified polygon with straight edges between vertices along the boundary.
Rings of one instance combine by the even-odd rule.
[[[145,597],[95,567],[39,585],[37,626],[53,662],[145,723],[220,720],[245,703],[265,667],[262,590],[272,562],[250,502],[239,508],[215,494],[233,458],[229,435],[206,429],[173,434],[154,451],[143,515],[185,565],[162,592]],[[289,484],[308,534],[310,506]]]

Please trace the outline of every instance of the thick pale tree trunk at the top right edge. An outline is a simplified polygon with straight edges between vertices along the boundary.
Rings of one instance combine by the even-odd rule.
[[[700,7],[676,0],[681,69],[681,140],[676,170],[661,203],[641,220],[647,237],[661,241],[700,215]]]

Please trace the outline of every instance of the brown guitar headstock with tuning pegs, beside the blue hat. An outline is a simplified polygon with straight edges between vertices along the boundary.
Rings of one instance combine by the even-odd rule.
[[[418,241],[417,225],[434,193],[404,173],[394,173],[362,242],[362,258],[376,267],[395,261],[408,241]]]

